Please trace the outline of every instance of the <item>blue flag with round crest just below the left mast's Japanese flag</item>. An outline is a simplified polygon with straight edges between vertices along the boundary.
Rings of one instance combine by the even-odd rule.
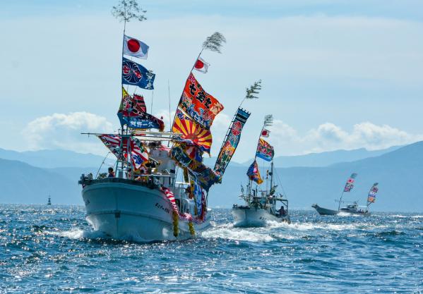
[[[122,58],[122,84],[153,90],[155,74],[141,64]]]

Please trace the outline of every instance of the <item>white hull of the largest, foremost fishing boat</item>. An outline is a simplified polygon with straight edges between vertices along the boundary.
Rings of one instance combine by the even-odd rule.
[[[131,183],[93,183],[82,191],[86,219],[95,231],[111,238],[153,242],[192,238],[189,222],[179,219],[179,233],[174,236],[172,207],[157,188]],[[193,222],[195,233],[210,226],[210,216],[202,223]]]

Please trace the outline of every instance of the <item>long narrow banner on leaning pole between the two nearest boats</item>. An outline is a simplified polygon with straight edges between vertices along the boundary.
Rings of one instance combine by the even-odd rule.
[[[241,138],[242,128],[246,120],[249,118],[250,113],[242,108],[238,108],[237,113],[234,116],[232,124],[226,134],[225,140],[223,141],[222,148],[220,149],[218,159],[215,163],[215,172],[220,176],[225,173],[235,150],[238,147],[239,140]]]

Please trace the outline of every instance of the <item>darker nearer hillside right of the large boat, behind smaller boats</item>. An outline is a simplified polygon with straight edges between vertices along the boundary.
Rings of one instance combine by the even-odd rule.
[[[355,188],[345,200],[365,204],[367,192],[379,182],[375,211],[423,211],[423,142],[401,147],[379,157],[335,164],[328,167],[276,169],[292,208],[311,209],[311,204],[337,207],[345,180],[357,172]],[[221,185],[213,186],[208,197],[211,206],[231,207],[239,203],[240,185],[246,184],[246,169],[230,167]],[[265,183],[266,184],[266,183]]]

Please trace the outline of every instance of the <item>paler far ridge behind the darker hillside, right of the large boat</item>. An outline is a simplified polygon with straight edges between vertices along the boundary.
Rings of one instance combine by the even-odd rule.
[[[340,162],[351,162],[368,157],[377,157],[381,154],[394,151],[400,148],[399,146],[389,147],[387,149],[369,151],[364,148],[354,150],[335,150],[321,153],[310,153],[297,156],[282,156],[275,157],[273,160],[276,167],[294,167],[294,166],[330,166]],[[249,166],[251,161],[244,162],[244,166]]]

